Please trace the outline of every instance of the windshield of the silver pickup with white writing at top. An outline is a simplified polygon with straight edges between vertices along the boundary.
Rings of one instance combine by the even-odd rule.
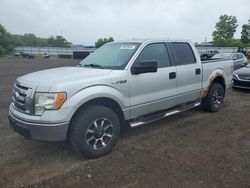
[[[108,43],[83,59],[79,66],[121,70],[139,46],[140,43]]]

